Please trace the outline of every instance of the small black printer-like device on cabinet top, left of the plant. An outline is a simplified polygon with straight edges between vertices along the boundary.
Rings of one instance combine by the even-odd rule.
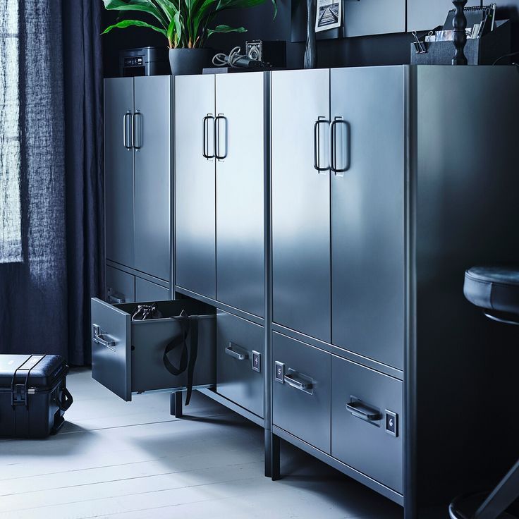
[[[166,47],[142,47],[119,52],[121,78],[131,78],[136,75],[168,75],[170,73]]]

